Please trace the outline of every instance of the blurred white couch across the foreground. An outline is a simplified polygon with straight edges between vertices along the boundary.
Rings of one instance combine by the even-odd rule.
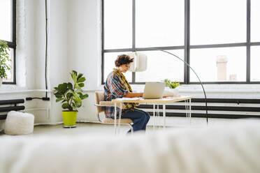
[[[260,172],[259,120],[152,135],[0,136],[0,172]]]

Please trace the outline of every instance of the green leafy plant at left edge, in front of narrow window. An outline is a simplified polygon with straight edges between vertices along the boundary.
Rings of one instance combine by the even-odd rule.
[[[3,79],[7,78],[6,72],[10,70],[10,56],[9,56],[9,47],[6,41],[0,40],[0,87],[3,82]]]

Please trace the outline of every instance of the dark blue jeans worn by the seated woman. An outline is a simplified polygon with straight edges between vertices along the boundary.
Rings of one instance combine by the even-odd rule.
[[[146,129],[146,125],[150,119],[150,114],[143,110],[126,110],[124,114],[122,114],[122,119],[131,119],[133,121],[133,131],[135,132]]]

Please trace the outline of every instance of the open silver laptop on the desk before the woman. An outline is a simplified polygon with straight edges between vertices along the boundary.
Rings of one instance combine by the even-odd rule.
[[[145,82],[145,90],[143,91],[144,99],[161,98],[164,94],[164,82]]]

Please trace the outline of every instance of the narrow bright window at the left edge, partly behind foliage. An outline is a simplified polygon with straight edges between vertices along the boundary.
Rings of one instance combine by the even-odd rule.
[[[3,84],[15,84],[15,48],[16,48],[16,0],[0,1],[0,40],[5,40],[10,47],[11,70],[7,73],[7,80]]]

